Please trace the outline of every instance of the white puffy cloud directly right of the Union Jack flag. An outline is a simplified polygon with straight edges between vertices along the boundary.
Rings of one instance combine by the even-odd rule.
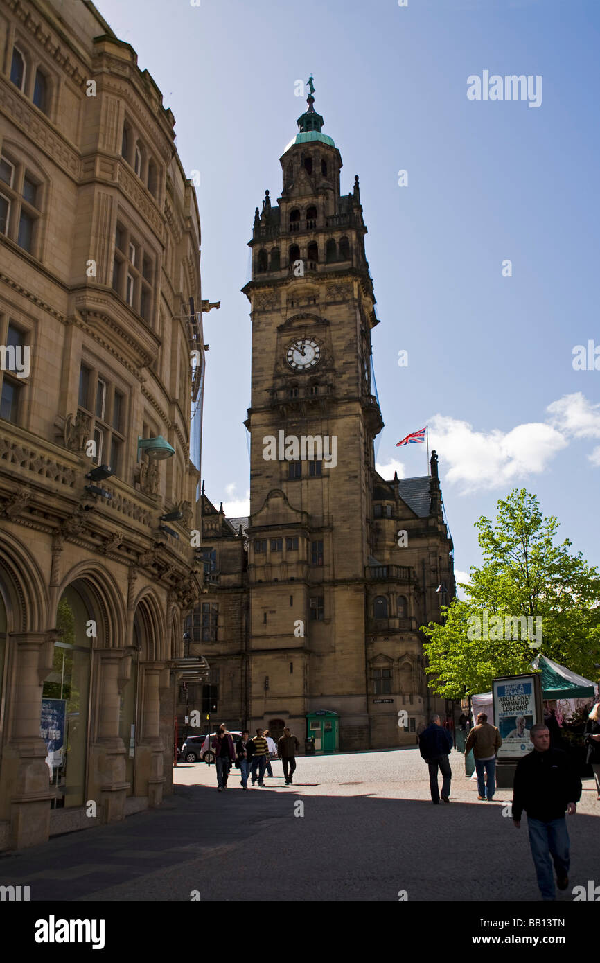
[[[543,472],[567,444],[559,430],[542,422],[509,431],[475,431],[468,422],[447,415],[430,419],[430,449],[450,464],[445,480],[461,482],[462,495]]]

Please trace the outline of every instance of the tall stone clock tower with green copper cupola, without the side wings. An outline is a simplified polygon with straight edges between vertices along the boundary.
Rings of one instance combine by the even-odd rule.
[[[309,81],[283,186],[254,214],[248,722],[306,716],[324,748],[368,747],[367,586],[373,568],[371,382],[378,324],[358,176],[342,194],[340,152]],[[391,702],[392,700],[387,700]],[[318,725],[315,725],[315,729]],[[326,744],[328,741],[331,743]],[[319,747],[319,746],[318,746]]]

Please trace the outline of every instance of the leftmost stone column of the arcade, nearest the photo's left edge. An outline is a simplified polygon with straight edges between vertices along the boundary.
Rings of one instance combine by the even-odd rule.
[[[9,740],[2,754],[2,781],[11,803],[11,844],[38,846],[49,837],[50,769],[39,735],[43,680],[52,670],[57,634],[11,633],[13,647],[8,700]]]

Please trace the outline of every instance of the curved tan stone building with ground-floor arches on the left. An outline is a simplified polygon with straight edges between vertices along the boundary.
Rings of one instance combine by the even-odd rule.
[[[4,0],[0,50],[6,848],[172,791],[204,346],[195,190],[135,51],[83,0]]]

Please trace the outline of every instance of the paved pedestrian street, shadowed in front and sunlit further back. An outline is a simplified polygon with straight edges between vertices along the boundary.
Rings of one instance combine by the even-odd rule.
[[[29,885],[32,899],[536,900],[526,821],[503,817],[510,792],[478,801],[463,757],[451,762],[453,801],[439,806],[416,748],[300,757],[293,787],[275,762],[248,793],[237,769],[218,793],[214,767],[180,765],[160,809],[5,854],[0,883]],[[600,803],[584,786],[561,900],[598,877]]]

